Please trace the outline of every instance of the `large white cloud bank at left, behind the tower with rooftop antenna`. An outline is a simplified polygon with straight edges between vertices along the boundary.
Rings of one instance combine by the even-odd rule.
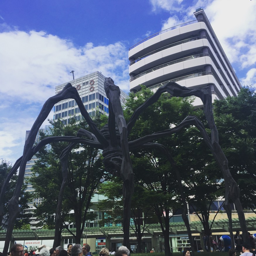
[[[0,31],[0,158],[14,163],[22,155],[26,130],[54,95],[55,86],[73,79],[71,70],[75,78],[101,71],[129,90],[127,49],[122,42],[75,47],[43,31],[24,32],[3,24]]]

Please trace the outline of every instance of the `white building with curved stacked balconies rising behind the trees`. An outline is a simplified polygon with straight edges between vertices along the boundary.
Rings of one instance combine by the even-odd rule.
[[[129,49],[130,91],[177,82],[189,88],[212,86],[212,98],[236,96],[240,82],[203,9],[196,20],[151,35]],[[200,106],[202,102],[195,101]]]

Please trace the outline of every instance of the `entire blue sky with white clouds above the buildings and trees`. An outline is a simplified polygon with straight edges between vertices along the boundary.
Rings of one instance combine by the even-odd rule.
[[[23,154],[25,131],[71,70],[101,71],[128,92],[129,47],[200,7],[241,84],[255,86],[256,0],[1,0],[0,159]]]

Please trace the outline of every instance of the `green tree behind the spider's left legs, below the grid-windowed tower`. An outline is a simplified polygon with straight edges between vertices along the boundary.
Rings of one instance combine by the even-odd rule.
[[[95,120],[102,124],[100,115],[97,115]],[[76,122],[75,118],[71,118],[71,122],[66,126],[60,120],[51,121],[51,124],[51,136],[75,136],[79,128],[87,128],[84,121]],[[41,139],[47,136],[49,135],[41,134]],[[51,150],[43,149],[37,154],[39,160],[33,166],[34,175],[29,182],[35,188],[34,196],[42,198],[42,204],[36,206],[35,211],[37,216],[45,217],[45,221],[40,224],[53,225],[54,219],[51,216],[55,213],[58,191],[62,183],[59,155],[67,146],[66,142],[51,143]],[[85,222],[88,220],[90,200],[102,178],[106,177],[97,149],[84,145],[83,149],[80,149],[80,145],[77,145],[68,157],[68,183],[63,197],[62,220],[76,243],[80,243]],[[70,214],[71,209],[74,210],[73,214]],[[68,228],[67,223],[71,222],[75,223],[75,233]],[[59,234],[62,228],[61,225]]]

